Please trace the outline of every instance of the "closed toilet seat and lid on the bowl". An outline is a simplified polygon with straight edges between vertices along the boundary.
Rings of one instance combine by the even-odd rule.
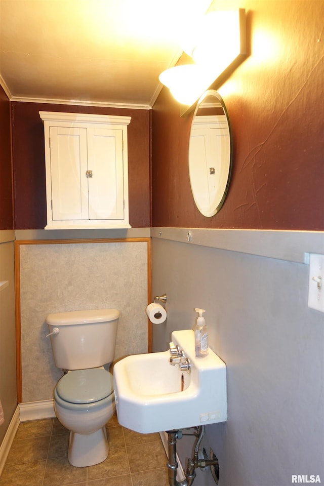
[[[61,407],[72,410],[106,406],[114,401],[113,377],[102,368],[71,371],[57,382],[54,398]]]

